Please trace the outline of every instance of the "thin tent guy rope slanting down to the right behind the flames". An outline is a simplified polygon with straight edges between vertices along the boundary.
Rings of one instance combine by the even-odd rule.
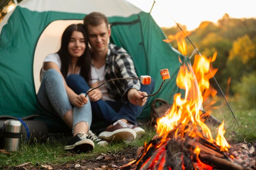
[[[154,6],[154,4],[155,4],[155,0],[154,0],[154,3],[153,3],[153,6]],[[152,8],[153,8],[153,6],[152,6]],[[162,6],[160,6],[160,7],[162,7]],[[152,8],[151,8],[151,10],[152,10]],[[162,7],[162,9],[164,9],[164,8]],[[150,12],[151,12],[151,10],[150,10]],[[164,11],[173,19],[173,17],[172,17],[165,9],[164,9]],[[180,30],[184,33],[184,35],[186,35],[186,33],[183,31],[183,29],[180,27],[180,25],[179,25],[174,19],[173,19],[173,21],[177,24],[177,26],[178,26],[178,27],[180,28]],[[190,42],[190,43],[192,44],[192,46],[195,48],[195,50],[197,51],[197,53],[202,57],[201,53],[200,53],[200,52],[198,51],[198,49],[196,48],[195,44],[190,40],[190,38],[189,38],[188,35],[186,35],[186,38],[189,40],[189,42]],[[216,82],[218,88],[220,89],[220,92],[221,92],[222,96],[224,97],[224,99],[225,99],[227,105],[229,106],[229,109],[230,109],[232,115],[233,115],[234,118],[236,119],[236,116],[235,116],[235,114],[234,114],[234,112],[233,112],[231,106],[229,105],[229,102],[227,101],[227,98],[226,98],[225,94],[223,93],[222,89],[220,88],[220,85],[218,84],[218,82],[217,82],[215,76],[214,76],[213,73],[211,72],[211,69],[209,69],[209,71],[210,71],[211,75],[213,76],[213,79],[214,79],[214,81]],[[236,123],[237,123],[238,126],[239,126],[239,123],[238,123],[237,119],[236,119]]]

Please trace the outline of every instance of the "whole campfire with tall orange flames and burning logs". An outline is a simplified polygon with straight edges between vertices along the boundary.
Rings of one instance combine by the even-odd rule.
[[[177,40],[179,50],[186,55],[184,35],[177,33],[169,38]],[[224,121],[218,128],[216,139],[204,122],[211,111],[202,111],[203,101],[209,95],[216,95],[216,90],[209,84],[209,79],[217,71],[211,66],[216,56],[217,53],[213,57],[195,55],[193,66],[180,60],[182,65],[176,83],[184,90],[184,95],[178,93],[174,96],[171,108],[157,120],[157,135],[145,143],[144,151],[135,161],[121,169],[243,170],[242,166],[233,163],[234,157],[229,154]]]

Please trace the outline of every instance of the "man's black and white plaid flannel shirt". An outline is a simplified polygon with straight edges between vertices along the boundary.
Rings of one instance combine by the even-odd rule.
[[[115,78],[138,78],[131,56],[125,49],[114,44],[108,45],[106,56],[105,81]],[[128,102],[127,92],[131,88],[139,91],[139,79],[115,80],[105,84],[108,93],[115,100]]]

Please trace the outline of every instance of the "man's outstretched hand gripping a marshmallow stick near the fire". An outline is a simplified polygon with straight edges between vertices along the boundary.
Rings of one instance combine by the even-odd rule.
[[[128,100],[131,104],[143,106],[147,101],[147,97],[144,97],[143,99],[142,97],[146,95],[148,95],[146,92],[137,91],[135,88],[131,88],[128,91]]]

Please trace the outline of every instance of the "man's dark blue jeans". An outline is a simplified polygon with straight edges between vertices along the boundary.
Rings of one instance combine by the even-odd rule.
[[[86,93],[90,86],[80,75],[72,74],[66,79],[67,85],[77,94]],[[141,84],[140,91],[151,94],[154,90],[155,82],[151,80],[151,84]],[[146,104],[145,104],[146,105]],[[92,114],[100,117],[106,124],[112,124],[119,119],[126,119],[132,124],[137,124],[136,119],[141,114],[144,106],[136,106],[134,104],[123,103],[121,99],[118,101],[103,101],[102,99],[97,102],[91,102]]]

